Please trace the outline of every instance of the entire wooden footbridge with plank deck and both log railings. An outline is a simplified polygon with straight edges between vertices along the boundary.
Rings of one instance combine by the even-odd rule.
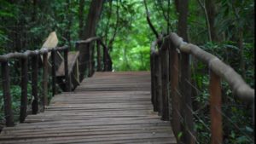
[[[99,37],[77,43],[78,49],[86,49],[84,54],[56,47],[53,39],[51,35],[44,48],[37,51],[0,56],[6,119],[6,127],[0,134],[1,144],[199,143],[193,129],[189,55],[206,63],[210,70],[212,143],[222,143],[223,139],[221,78],[254,110],[254,89],[240,75],[214,55],[184,43],[175,33],[152,43],[151,72],[110,72],[112,62],[108,48]],[[61,55],[61,51],[64,54]],[[85,55],[85,60],[81,60],[80,55]],[[21,62],[18,124],[14,122],[11,107],[11,59]],[[32,114],[28,115],[30,61],[33,100]],[[38,95],[38,69],[41,67],[43,93]],[[65,92],[57,93],[57,89]],[[54,97],[48,103],[49,91]]]

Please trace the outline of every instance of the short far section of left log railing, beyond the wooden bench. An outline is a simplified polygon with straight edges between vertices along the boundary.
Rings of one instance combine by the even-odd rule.
[[[96,51],[95,51],[95,45],[96,45]],[[102,46],[102,49],[101,49],[101,46]],[[84,60],[79,60],[80,61],[79,63],[80,81],[84,79],[84,75],[85,77],[91,77],[95,72],[94,71],[95,66],[97,67],[96,71],[98,72],[112,71],[112,60],[108,53],[108,48],[104,43],[102,43],[102,39],[100,37],[90,37],[86,40],[77,41],[76,48],[84,49],[84,53],[85,55],[87,55]],[[95,55],[96,55],[96,61],[95,61]],[[103,61],[103,66],[101,61]],[[85,67],[85,68],[82,69],[81,67]]]

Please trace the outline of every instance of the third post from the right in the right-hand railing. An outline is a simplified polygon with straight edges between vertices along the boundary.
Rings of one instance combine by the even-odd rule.
[[[174,135],[178,135],[181,131],[181,119],[180,119],[180,105],[181,97],[178,94],[178,55],[176,48],[171,43],[171,49],[169,49],[170,54],[170,79],[171,79],[171,96],[172,96],[172,129]]]

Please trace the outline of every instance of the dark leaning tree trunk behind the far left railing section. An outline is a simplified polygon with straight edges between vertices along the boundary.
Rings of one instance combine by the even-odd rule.
[[[90,3],[90,11],[87,17],[86,25],[84,27],[84,35],[83,39],[87,39],[89,37],[94,37],[96,35],[96,26],[98,20],[102,13],[103,0],[92,0]],[[87,64],[84,63],[84,58],[86,57],[86,49],[89,47],[79,47],[79,71],[80,71],[80,80],[84,78],[84,72],[86,70]]]

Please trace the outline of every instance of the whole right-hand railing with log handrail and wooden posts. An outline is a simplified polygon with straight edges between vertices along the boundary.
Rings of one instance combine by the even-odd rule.
[[[191,101],[190,55],[209,68],[212,143],[222,143],[221,79],[241,101],[251,103],[254,124],[254,89],[250,88],[232,67],[198,46],[183,42],[176,33],[151,45],[152,103],[161,119],[171,120],[174,134],[182,132],[181,142],[195,143]],[[179,138],[178,138],[179,139]]]

